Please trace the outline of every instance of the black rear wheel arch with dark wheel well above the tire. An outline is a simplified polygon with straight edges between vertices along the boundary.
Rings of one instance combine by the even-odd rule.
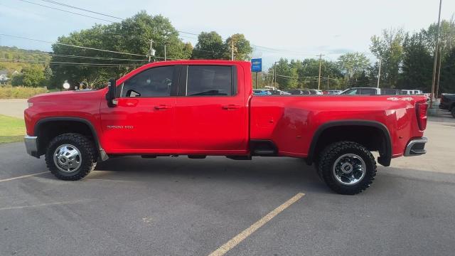
[[[378,151],[380,151],[378,162],[382,166],[390,166],[390,161],[392,160],[392,142],[390,139],[390,132],[387,127],[385,127],[385,125],[380,122],[357,119],[331,121],[321,124],[321,126],[314,133],[313,139],[311,140],[309,154],[306,158],[307,164],[312,164],[316,160],[319,151],[322,150],[321,147],[326,145],[323,143],[324,133],[337,129],[340,131],[350,129],[350,136],[353,136],[355,131],[361,131],[363,129],[368,129],[370,131],[374,130],[375,132],[378,132],[378,134],[380,134],[382,137],[380,140],[380,145],[375,145],[379,147]],[[343,136],[340,136],[340,138],[341,139],[335,139],[335,141],[332,142],[343,140]]]

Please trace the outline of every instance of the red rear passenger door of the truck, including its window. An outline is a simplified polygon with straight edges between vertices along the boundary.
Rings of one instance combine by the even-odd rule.
[[[176,134],[181,151],[247,152],[245,85],[243,71],[238,71],[232,64],[183,66],[176,102]]]

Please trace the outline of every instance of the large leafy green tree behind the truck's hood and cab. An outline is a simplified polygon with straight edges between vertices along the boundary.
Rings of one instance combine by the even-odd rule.
[[[163,60],[165,45],[166,57],[169,59],[185,59],[191,56],[191,44],[183,43],[178,38],[178,31],[168,18],[161,15],[151,16],[145,11],[141,11],[121,23],[97,24],[92,28],[58,38],[57,43],[53,44],[55,54],[90,58],[77,59],[54,55],[52,58],[54,62],[97,63],[106,64],[106,66],[53,64],[53,82],[55,85],[61,85],[63,81],[68,80],[73,87],[79,85],[80,82],[87,83],[89,87],[104,86],[104,81],[109,78],[119,78],[132,69],[147,63],[148,58],[145,55],[149,55],[151,39],[154,42],[153,48],[156,50],[156,55],[152,59]],[[65,46],[65,44],[136,55],[74,48]],[[99,59],[92,59],[92,57]]]

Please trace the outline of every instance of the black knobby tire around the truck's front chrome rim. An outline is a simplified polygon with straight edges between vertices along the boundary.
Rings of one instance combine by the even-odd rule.
[[[71,172],[61,171],[56,166],[53,154],[58,146],[63,144],[70,144],[80,151],[80,166]],[[48,166],[49,171],[57,178],[64,181],[77,181],[87,176],[90,171],[95,169],[97,164],[97,154],[95,144],[90,139],[82,134],[67,133],[60,134],[50,141],[48,149],[45,153],[45,164]]]

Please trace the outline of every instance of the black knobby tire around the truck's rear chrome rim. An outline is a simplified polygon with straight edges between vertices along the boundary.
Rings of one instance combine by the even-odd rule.
[[[344,154],[355,154],[360,156],[365,162],[365,176],[354,185],[345,185],[337,180],[333,174],[333,164],[338,157]],[[364,191],[373,183],[376,176],[376,161],[368,149],[361,144],[355,142],[336,142],[328,145],[319,155],[318,163],[319,176],[323,179],[326,185],[336,193],[343,195],[355,195]]]

